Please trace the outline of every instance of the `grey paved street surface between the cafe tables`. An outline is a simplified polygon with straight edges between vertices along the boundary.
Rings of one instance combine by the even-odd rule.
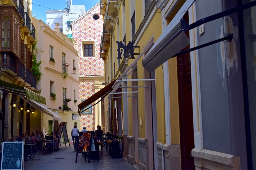
[[[49,155],[42,155],[42,151],[39,152],[39,156],[41,159],[38,159],[37,153],[35,153],[35,158],[32,159],[32,166],[29,165],[28,160],[24,161],[24,169],[25,170],[56,170],[56,169],[76,169],[76,170],[84,170],[84,169],[92,169],[92,170],[110,170],[110,169],[122,169],[122,170],[136,170],[132,166],[132,164],[128,163],[124,158],[112,159],[109,156],[106,148],[100,152],[100,160],[90,159],[90,163],[88,163],[88,158],[86,158],[86,162],[84,161],[84,157],[82,158],[82,154],[78,153],[77,163],[76,163],[76,152],[74,147],[71,145],[67,145],[67,148],[61,146],[60,151],[54,152],[53,154],[49,153]]]

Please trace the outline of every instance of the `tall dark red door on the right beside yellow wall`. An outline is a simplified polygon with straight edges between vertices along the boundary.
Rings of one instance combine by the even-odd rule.
[[[186,14],[185,19],[188,18]],[[188,19],[187,19],[188,20]],[[189,33],[186,33],[189,37]],[[185,48],[188,49],[189,47]],[[194,158],[191,156],[194,144],[193,106],[191,87],[190,55],[177,56],[178,91],[179,91],[179,119],[180,119],[180,158],[182,170],[195,169]]]

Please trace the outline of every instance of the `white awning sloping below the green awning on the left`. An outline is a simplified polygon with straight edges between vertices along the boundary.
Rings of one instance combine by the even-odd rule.
[[[49,115],[49,116],[52,116],[53,117],[53,120],[56,120],[56,121],[62,121],[62,117],[58,114],[58,112],[54,113],[53,111],[51,111],[50,109],[48,109],[47,107],[41,105],[40,103],[34,101],[34,100],[31,100],[31,99],[28,99],[24,96],[21,96],[19,95],[20,98],[22,98],[23,100],[25,100],[26,102],[28,102],[31,106],[33,106],[34,108],[36,108],[37,110],[41,111],[41,112],[44,112],[45,114]]]

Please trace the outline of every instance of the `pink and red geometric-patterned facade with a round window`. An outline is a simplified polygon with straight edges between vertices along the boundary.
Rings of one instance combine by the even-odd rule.
[[[85,12],[82,16],[77,18],[72,23],[73,39],[75,41],[76,49],[79,52],[79,97],[81,103],[88,99],[95,93],[93,78],[104,77],[104,61],[100,58],[100,42],[103,27],[103,19],[95,20],[93,15],[100,16],[100,3],[93,6],[90,10]],[[94,56],[83,57],[83,44],[94,41]],[[93,78],[92,78],[93,77]],[[88,80],[86,80],[88,78]],[[93,103],[92,103],[93,104]],[[85,126],[88,131],[95,130],[95,108],[90,110],[91,114],[81,114],[80,127]]]

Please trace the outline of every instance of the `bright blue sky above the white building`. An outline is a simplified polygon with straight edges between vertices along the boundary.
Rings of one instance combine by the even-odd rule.
[[[88,11],[100,0],[73,0],[73,5],[84,5],[85,11]],[[46,23],[46,12],[50,10],[64,10],[67,6],[66,0],[33,0],[32,16],[41,19]]]

